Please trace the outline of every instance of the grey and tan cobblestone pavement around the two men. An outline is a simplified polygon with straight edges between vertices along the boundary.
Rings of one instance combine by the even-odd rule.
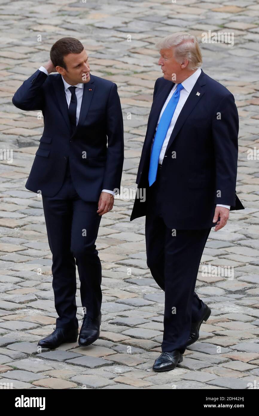
[[[0,383],[15,389],[258,388],[258,12],[256,0],[0,0],[0,149],[13,149],[12,163],[4,152],[0,161]],[[25,188],[43,120],[36,111],[17,109],[11,98],[47,62],[57,39],[80,39],[92,74],[118,85],[125,126],[122,185],[135,189],[153,86],[161,76],[154,43],[183,30],[200,40],[203,70],[234,94],[240,117],[236,189],[246,209],[232,211],[224,229],[212,230],[197,278],[211,317],[175,370],[152,370],[160,354],[164,295],[146,265],[145,218],[129,221],[128,196],[104,215],[97,240],[100,338],[87,348],[74,343],[38,350],[57,317],[42,200]],[[234,33],[234,46],[203,44],[209,30]],[[206,276],[205,265],[217,273]],[[222,275],[227,267],[234,277]],[[77,305],[80,324],[79,279]]]

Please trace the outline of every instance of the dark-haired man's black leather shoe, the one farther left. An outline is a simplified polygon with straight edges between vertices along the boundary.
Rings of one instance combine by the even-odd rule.
[[[76,342],[77,337],[78,328],[54,328],[54,331],[50,335],[39,340],[38,345],[43,348],[57,348],[64,342]]]

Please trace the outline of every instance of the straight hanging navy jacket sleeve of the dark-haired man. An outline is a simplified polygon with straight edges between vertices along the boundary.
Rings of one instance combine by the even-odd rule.
[[[106,110],[107,158],[103,188],[120,189],[124,160],[123,117],[117,85],[112,84]],[[119,193],[119,192],[117,192]]]

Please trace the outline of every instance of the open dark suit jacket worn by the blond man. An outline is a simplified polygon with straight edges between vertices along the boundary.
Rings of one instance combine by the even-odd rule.
[[[173,85],[163,77],[155,82],[136,178],[138,188],[146,190],[146,201],[138,197],[137,191],[131,220],[147,212],[152,139],[160,111]],[[244,209],[235,190],[238,130],[233,94],[201,70],[178,116],[163,158],[161,213],[169,228],[215,227],[212,220],[216,204],[230,205],[230,210]],[[139,195],[145,193],[139,192]]]

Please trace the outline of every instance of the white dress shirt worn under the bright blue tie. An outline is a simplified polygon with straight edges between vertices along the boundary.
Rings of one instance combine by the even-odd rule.
[[[170,125],[168,127],[168,131],[165,135],[165,140],[163,142],[163,145],[162,145],[162,148],[161,148],[161,151],[160,151],[160,154],[159,154],[158,163],[160,165],[163,162],[163,158],[165,156],[165,151],[166,151],[166,148],[167,148],[167,145],[168,145],[168,141],[169,141],[170,136],[172,134],[173,128],[174,128],[175,123],[176,123],[176,120],[178,119],[180,111],[183,109],[183,106],[184,106],[187,98],[189,97],[189,94],[192,91],[192,88],[194,87],[194,85],[195,85],[197,79],[199,78],[200,74],[201,74],[201,69],[198,68],[198,69],[196,69],[196,71],[192,75],[190,75],[190,77],[186,78],[181,83],[183,85],[183,89],[180,90],[180,98],[179,98],[179,101],[178,101],[177,106],[175,108],[175,112],[173,114],[172,120],[171,120]],[[165,110],[165,107],[167,106],[168,102],[170,101],[170,98],[172,97],[173,93],[175,92],[175,90],[177,88],[177,85],[178,85],[177,83],[174,84],[174,86],[171,89],[167,99],[165,100],[165,104],[163,105],[163,108],[160,112],[160,116],[158,118],[158,123],[157,123],[156,129],[158,128],[158,124],[159,124],[159,121],[161,119],[161,116],[162,116],[162,114]],[[154,141],[154,138],[155,138],[155,136],[153,137],[153,141]],[[153,142],[152,142],[152,146],[153,146]],[[152,146],[151,146],[151,151],[152,151]],[[150,151],[150,154],[151,154],[151,151]],[[230,208],[230,205],[217,204],[217,206],[228,208],[228,209]]]

